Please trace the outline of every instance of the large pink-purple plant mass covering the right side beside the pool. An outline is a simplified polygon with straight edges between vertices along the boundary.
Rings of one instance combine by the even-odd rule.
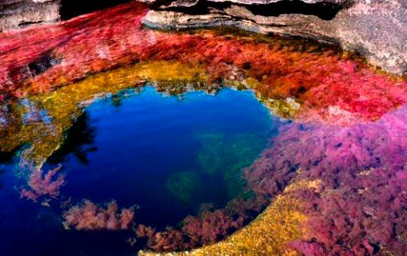
[[[249,186],[272,196],[294,177],[320,181],[319,189],[296,194],[309,220],[292,248],[309,255],[407,251],[406,114],[402,107],[349,127],[291,123],[246,170]]]

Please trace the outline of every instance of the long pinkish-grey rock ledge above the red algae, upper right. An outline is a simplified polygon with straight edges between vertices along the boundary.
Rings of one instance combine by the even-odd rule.
[[[302,36],[355,50],[387,72],[407,72],[406,0],[140,0],[145,25],[161,29],[232,26]]]

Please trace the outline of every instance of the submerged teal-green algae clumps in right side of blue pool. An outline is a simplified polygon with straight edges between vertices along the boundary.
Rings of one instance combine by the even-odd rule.
[[[180,201],[192,203],[204,191],[201,187],[203,177],[220,177],[225,180],[228,198],[250,197],[250,191],[245,191],[243,169],[258,158],[266,138],[251,133],[208,133],[198,136],[204,141],[197,152],[199,168],[168,177],[168,191]]]

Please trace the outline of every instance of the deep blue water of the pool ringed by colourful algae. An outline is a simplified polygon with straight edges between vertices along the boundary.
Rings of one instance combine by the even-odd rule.
[[[97,100],[44,164],[48,170],[62,163],[67,174],[51,207],[19,198],[16,188],[26,181],[13,175],[17,156],[2,163],[0,254],[135,255],[124,242],[131,231],[66,231],[58,202],[137,204],[136,224],[176,226],[201,203],[222,207],[239,195],[241,168],[257,158],[279,125],[248,90],[180,97],[146,87],[125,91],[119,100]]]

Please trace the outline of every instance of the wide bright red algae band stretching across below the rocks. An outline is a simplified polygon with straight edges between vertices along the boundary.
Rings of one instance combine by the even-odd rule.
[[[215,32],[153,31],[142,27],[146,12],[146,6],[133,2],[58,25],[1,34],[2,94],[44,92],[133,62],[178,60],[205,67],[210,83],[237,72],[258,81],[254,89],[261,97],[294,97],[302,104],[296,118],[305,122],[372,121],[407,100],[406,81],[338,53]]]

